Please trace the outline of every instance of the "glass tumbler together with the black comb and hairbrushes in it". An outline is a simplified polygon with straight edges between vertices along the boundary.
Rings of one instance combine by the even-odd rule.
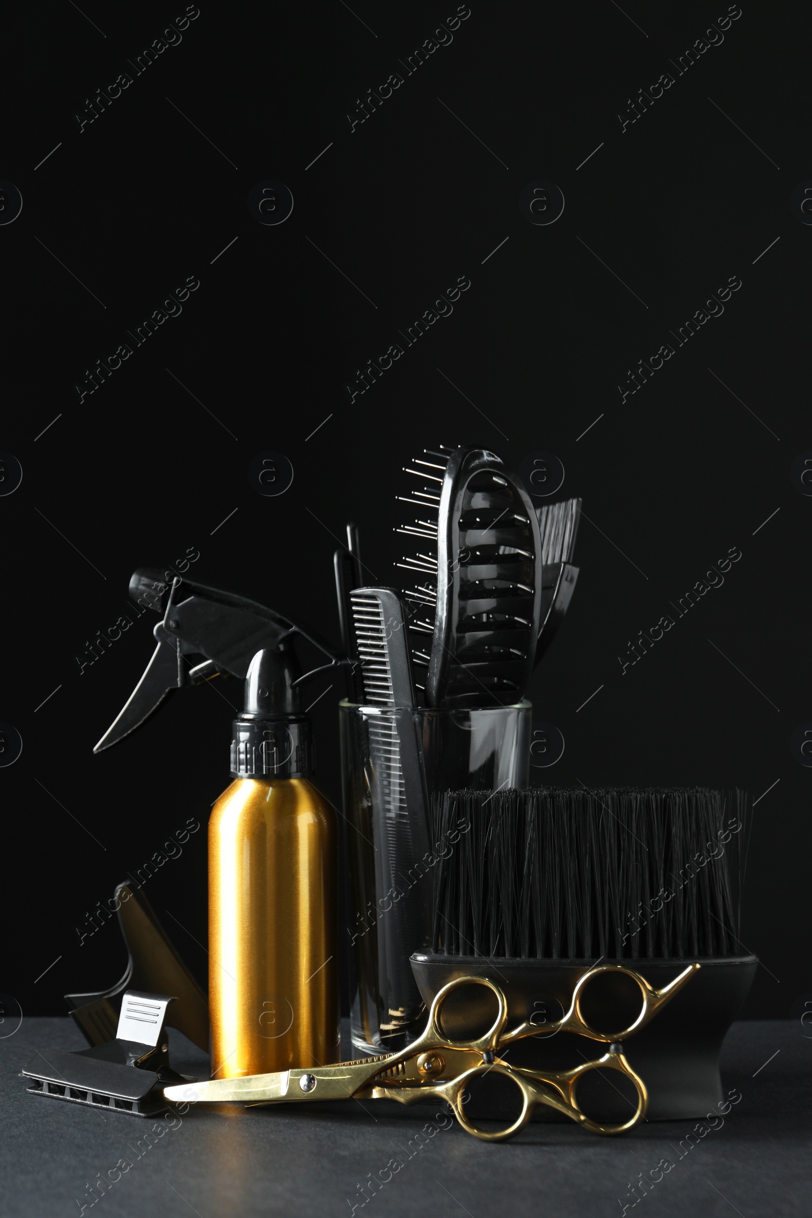
[[[421,513],[397,530],[418,547],[397,569],[420,579],[404,597],[351,594],[365,704],[340,713],[355,906],[351,1035],[362,1052],[404,1047],[425,1018],[403,951],[429,945],[432,921],[431,884],[420,878],[429,836],[414,811],[438,790],[527,784],[523,695],[578,575],[569,559],[579,499],[537,513],[519,477],[482,448],[425,451],[404,471],[418,482],[398,502]],[[386,781],[381,750],[411,759],[409,792]]]

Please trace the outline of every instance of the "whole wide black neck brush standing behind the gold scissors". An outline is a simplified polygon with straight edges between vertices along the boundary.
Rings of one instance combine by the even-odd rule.
[[[458,977],[488,978],[504,989],[509,1028],[539,1028],[511,1063],[569,1068],[592,1041],[544,1024],[561,1018],[586,972],[617,962],[656,989],[696,962],[623,1051],[646,1084],[649,1121],[705,1116],[722,1102],[722,1041],[758,963],[739,940],[750,811],[744,792],[702,788],[435,797],[432,946],[411,956],[424,1002]],[[581,993],[606,1032],[639,1011],[637,983],[618,973]],[[457,1035],[487,1017],[475,1009],[476,998],[458,1012]]]

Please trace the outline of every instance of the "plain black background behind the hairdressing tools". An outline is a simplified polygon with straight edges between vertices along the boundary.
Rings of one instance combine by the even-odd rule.
[[[85,0],[6,18],[0,178],[23,209],[0,228],[0,446],[23,481],[0,499],[0,719],[23,753],[0,771],[2,989],[26,1013],[61,1013],[66,991],[118,978],[114,923],[82,946],[75,927],[189,817],[200,831],[145,892],[206,972],[205,826],[229,781],[224,698],[237,706],[240,691],[178,694],[93,756],[155,619],[82,675],[77,657],[127,608],[134,568],[198,551],[190,577],[337,643],[346,521],[370,580],[399,583],[401,470],[438,443],[485,445],[514,466],[555,453],[560,495],[583,496],[579,583],[530,691],[566,739],[541,778],[772,787],[755,809],[741,931],[766,967],[745,1013],[785,1017],[812,989],[811,775],[789,749],[812,719],[812,503],[789,477],[812,448],[812,229],[789,206],[812,178],[811,22],[803,4],[745,2],[678,74],[670,61],[727,9],[472,0],[411,74],[403,61],[455,5],[201,0],[183,41],[138,76],[127,60],[183,5]],[[121,72],[133,83],[80,133],[74,114]],[[403,84],[351,132],[357,99],[393,72]],[[621,132],[628,99],[665,72],[673,85]],[[247,208],[267,179],[293,195],[279,227]],[[537,180],[566,200],[550,227],[519,209]],[[734,275],[724,314],[672,342]],[[200,287],[183,313],[79,401],[85,370],[187,276]],[[351,404],[357,369],[458,276],[471,286],[453,315]],[[667,342],[674,356],[622,404],[627,370]],[[247,480],[267,449],[293,465],[279,498]],[[732,547],[724,585],[621,675],[628,641]],[[317,781],[336,803],[340,692],[313,713]]]

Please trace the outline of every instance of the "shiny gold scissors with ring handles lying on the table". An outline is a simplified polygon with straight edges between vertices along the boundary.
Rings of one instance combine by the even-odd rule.
[[[504,1141],[513,1138],[527,1124],[537,1106],[543,1104],[593,1133],[620,1134],[634,1128],[643,1119],[648,1093],[643,1079],[634,1073],[622,1050],[618,1051],[615,1044],[633,1035],[653,1019],[699,967],[698,963],[690,965],[660,990],[654,989],[644,977],[623,965],[603,965],[587,970],[575,987],[570,1010],[561,1019],[544,1027],[545,1033],[575,1032],[593,1040],[609,1043],[609,1050],[601,1057],[572,1069],[534,1071],[503,1061],[497,1056],[500,1049],[522,1037],[538,1035],[539,1027],[525,1021],[505,1033],[508,1002],[500,987],[486,977],[457,977],[435,995],[422,1034],[399,1052],[337,1062],[334,1066],[180,1084],[164,1088],[163,1094],[167,1100],[175,1102],[248,1105],[349,1099],[386,1099],[410,1105],[439,1099],[450,1106],[463,1129],[482,1141]],[[607,972],[620,972],[631,977],[638,984],[643,1000],[637,1018],[627,1028],[612,1033],[593,1028],[581,1011],[581,999],[587,983],[595,976]],[[448,996],[465,985],[487,987],[495,995],[498,1010],[492,1027],[483,1035],[454,1040],[443,1030],[441,1013]],[[614,1069],[632,1082],[638,1102],[633,1116],[623,1124],[601,1124],[578,1107],[576,1099],[578,1080],[594,1069]],[[467,1085],[475,1078],[488,1073],[504,1075],[521,1093],[521,1112],[505,1129],[480,1129],[465,1113]]]

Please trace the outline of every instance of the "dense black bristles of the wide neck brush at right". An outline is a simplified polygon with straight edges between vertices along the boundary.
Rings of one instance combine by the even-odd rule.
[[[732,957],[751,810],[741,790],[447,792],[432,951],[525,960]],[[460,832],[461,828],[461,832]]]

